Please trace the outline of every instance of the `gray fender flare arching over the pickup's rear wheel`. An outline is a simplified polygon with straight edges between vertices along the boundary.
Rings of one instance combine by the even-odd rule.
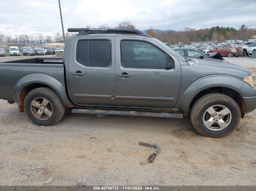
[[[14,100],[16,103],[18,103],[19,111],[21,111],[20,106],[23,104],[19,101],[21,92],[29,84],[44,84],[49,86],[56,91],[66,108],[73,107],[73,104],[68,100],[68,96],[66,94],[64,78],[63,81],[58,81],[56,78],[47,74],[32,73],[22,77],[14,88]]]

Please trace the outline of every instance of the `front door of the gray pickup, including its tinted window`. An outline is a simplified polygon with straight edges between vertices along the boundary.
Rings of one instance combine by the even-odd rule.
[[[154,41],[116,37],[115,105],[121,107],[173,108],[181,84],[181,66],[172,55],[173,69],[166,69],[167,54]],[[147,48],[145,48],[147,47]]]

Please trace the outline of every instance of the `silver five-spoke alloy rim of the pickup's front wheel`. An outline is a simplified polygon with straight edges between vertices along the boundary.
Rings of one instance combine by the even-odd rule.
[[[231,111],[223,105],[211,106],[203,115],[204,126],[213,131],[225,129],[230,124],[231,119]]]

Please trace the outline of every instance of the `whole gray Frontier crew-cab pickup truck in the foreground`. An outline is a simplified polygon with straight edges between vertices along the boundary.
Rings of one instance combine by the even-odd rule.
[[[0,63],[0,99],[18,103],[37,125],[58,123],[66,108],[166,118],[182,118],[191,108],[199,133],[221,137],[256,108],[246,68],[183,58],[137,29],[68,31],[79,33],[66,40],[63,58]]]

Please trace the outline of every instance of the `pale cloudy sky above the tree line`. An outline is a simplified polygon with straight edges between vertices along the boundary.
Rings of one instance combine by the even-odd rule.
[[[90,24],[183,30],[212,26],[256,28],[255,0],[60,0],[64,31]],[[58,0],[0,0],[0,33],[54,36],[62,33]]]

